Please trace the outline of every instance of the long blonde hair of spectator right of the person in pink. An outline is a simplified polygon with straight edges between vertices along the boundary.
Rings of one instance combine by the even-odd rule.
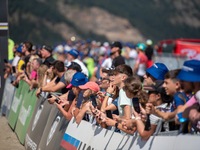
[[[38,87],[42,87],[42,83],[43,83],[43,79],[44,79],[44,75],[45,72],[48,70],[49,68],[46,65],[40,65],[40,67],[37,69],[37,75],[38,75]],[[52,80],[54,77],[53,72],[49,73],[47,76],[47,79]]]

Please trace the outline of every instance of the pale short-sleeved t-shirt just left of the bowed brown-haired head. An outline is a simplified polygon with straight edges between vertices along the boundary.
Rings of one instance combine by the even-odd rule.
[[[120,117],[124,116],[124,107],[126,105],[131,106],[131,108],[133,107],[132,99],[130,99],[126,96],[126,93],[122,88],[119,91],[119,99],[118,99],[118,111],[119,111]],[[132,109],[131,109],[131,113],[132,113]]]

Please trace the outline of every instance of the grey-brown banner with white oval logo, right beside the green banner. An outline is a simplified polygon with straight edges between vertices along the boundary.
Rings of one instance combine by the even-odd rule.
[[[37,100],[25,137],[25,148],[36,150],[42,138],[44,129],[53,105],[44,97]]]

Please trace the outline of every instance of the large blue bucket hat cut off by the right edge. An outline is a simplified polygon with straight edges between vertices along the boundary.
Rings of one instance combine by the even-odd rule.
[[[177,78],[183,81],[200,82],[200,61],[185,61]]]

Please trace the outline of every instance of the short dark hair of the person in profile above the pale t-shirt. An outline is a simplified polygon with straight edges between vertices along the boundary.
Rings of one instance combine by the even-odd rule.
[[[113,74],[116,75],[118,73],[125,74],[128,77],[133,76],[133,71],[132,71],[131,67],[129,65],[126,65],[126,64],[119,65],[115,68],[115,70],[113,71]]]

